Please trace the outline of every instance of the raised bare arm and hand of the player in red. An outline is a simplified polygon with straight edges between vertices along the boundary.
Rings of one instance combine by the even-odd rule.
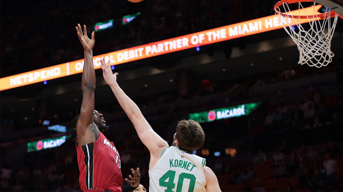
[[[84,65],[82,72],[82,105],[80,110],[80,118],[76,125],[76,133],[78,135],[79,144],[87,144],[94,141],[94,133],[90,128],[93,127],[94,114],[94,90],[95,90],[95,71],[93,66],[93,47],[94,47],[94,31],[92,39],[87,37],[86,26],[83,26],[84,34],[80,24],[76,27],[80,42],[84,49]],[[80,146],[80,145],[79,145]]]

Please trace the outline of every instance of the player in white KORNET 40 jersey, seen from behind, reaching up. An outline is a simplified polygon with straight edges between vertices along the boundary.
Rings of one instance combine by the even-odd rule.
[[[206,167],[206,159],[192,152],[204,143],[205,134],[193,120],[177,124],[173,146],[151,128],[138,106],[124,93],[117,83],[118,73],[112,74],[110,62],[101,60],[106,83],[111,87],[120,106],[136,129],[139,138],[150,151],[149,191],[221,191],[217,177]]]

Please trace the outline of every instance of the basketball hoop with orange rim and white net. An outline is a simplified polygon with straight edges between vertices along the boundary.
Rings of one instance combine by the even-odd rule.
[[[313,2],[313,9],[304,8],[301,2]],[[291,11],[288,7],[289,3],[298,3],[298,10]],[[284,13],[280,10],[281,5]],[[279,14],[280,23],[298,47],[300,52],[298,63],[301,65],[306,63],[310,67],[318,68],[327,66],[334,56],[330,47],[339,14],[328,8],[324,13],[320,13],[318,10],[321,7],[312,0],[281,0],[274,6],[275,14]],[[334,17],[333,23],[331,23],[332,17]],[[305,29],[301,23],[309,23],[309,28]]]

